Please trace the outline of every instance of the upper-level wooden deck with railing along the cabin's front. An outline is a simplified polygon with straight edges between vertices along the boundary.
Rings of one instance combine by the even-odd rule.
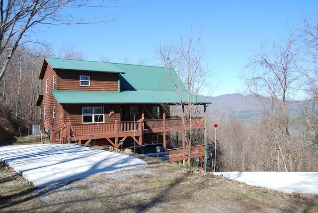
[[[204,128],[204,118],[192,118],[192,128]],[[190,127],[190,121],[186,121]],[[79,143],[88,145],[95,139],[106,139],[112,146],[118,148],[119,140],[132,137],[138,144],[143,144],[142,136],[145,133],[159,133],[177,131],[184,128],[180,118],[115,121],[109,123],[74,124],[65,123],[51,132],[51,143]],[[136,139],[139,138],[139,139]]]

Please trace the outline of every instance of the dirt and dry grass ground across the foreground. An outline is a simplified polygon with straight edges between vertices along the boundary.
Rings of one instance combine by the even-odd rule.
[[[149,165],[44,188],[0,166],[0,212],[318,212],[318,195],[253,187],[200,168],[152,158]]]

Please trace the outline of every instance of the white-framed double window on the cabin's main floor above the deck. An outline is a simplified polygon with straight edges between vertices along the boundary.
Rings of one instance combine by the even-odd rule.
[[[104,107],[83,107],[82,108],[83,123],[103,123]]]

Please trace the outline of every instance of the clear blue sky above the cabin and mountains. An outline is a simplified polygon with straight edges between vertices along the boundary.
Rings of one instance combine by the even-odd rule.
[[[278,41],[297,26],[305,13],[318,20],[317,0],[124,0],[134,6],[97,9],[96,16],[118,13],[118,20],[95,25],[41,28],[41,38],[57,53],[63,43],[75,46],[86,60],[108,57],[110,62],[131,64],[140,59],[161,66],[155,51],[160,39],[170,41],[192,26],[203,27],[204,44],[210,49],[209,64],[220,75],[219,96],[241,92],[238,78],[253,50],[266,39]],[[75,10],[91,16],[90,10]],[[57,55],[56,55],[57,56]]]

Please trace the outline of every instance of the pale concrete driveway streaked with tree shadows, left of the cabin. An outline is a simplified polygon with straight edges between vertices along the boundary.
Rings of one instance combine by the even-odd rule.
[[[147,165],[129,155],[75,144],[0,146],[0,160],[36,187]]]

